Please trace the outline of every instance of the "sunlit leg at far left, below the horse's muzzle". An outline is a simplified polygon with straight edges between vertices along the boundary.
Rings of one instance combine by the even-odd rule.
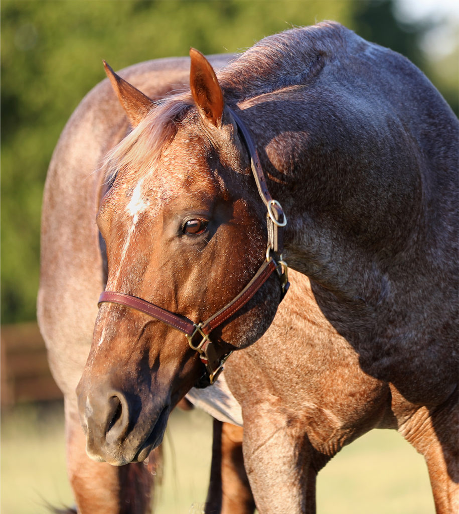
[[[92,461],[78,414],[66,409],[67,470],[79,514],[150,512],[152,474],[143,463],[111,466]]]

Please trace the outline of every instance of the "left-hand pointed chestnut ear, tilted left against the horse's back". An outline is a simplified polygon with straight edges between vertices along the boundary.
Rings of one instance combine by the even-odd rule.
[[[132,126],[137,126],[151,111],[151,108],[155,105],[154,102],[139,89],[119,77],[105,61],[104,68]]]

